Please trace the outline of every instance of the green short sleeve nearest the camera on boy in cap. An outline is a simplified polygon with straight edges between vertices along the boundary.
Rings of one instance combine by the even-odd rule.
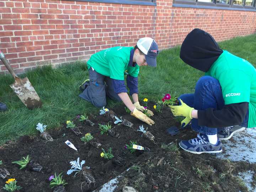
[[[112,58],[109,62],[110,78],[116,80],[124,80],[125,64],[119,57]]]

